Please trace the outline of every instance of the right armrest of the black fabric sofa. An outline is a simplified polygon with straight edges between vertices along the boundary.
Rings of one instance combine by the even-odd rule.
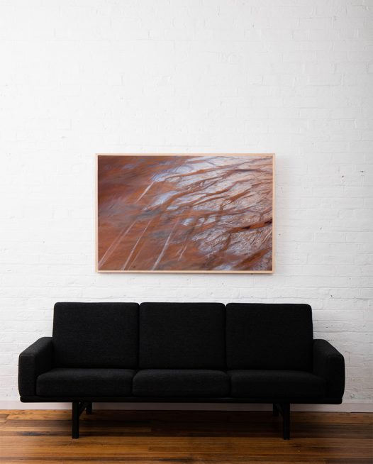
[[[345,391],[345,358],[326,340],[313,341],[313,373],[326,380],[328,397],[342,399]]]

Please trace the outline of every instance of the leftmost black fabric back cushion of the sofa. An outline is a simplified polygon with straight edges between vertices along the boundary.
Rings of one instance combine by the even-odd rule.
[[[55,367],[135,368],[137,303],[56,303]]]

